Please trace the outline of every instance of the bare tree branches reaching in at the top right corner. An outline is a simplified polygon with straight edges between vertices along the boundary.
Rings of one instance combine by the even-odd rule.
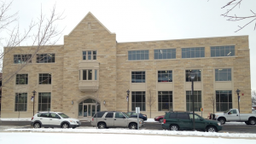
[[[239,29],[236,30],[236,32],[240,31],[241,29],[243,29],[244,27],[248,26],[251,23],[255,23],[254,24],[254,30],[256,28],[256,13],[253,12],[252,9],[250,9],[249,11],[251,12],[251,15],[247,15],[247,16],[241,16],[241,15],[236,15],[236,14],[231,14],[231,12],[234,11],[234,9],[240,9],[241,7],[241,2],[242,0],[232,0],[229,3],[225,4],[221,9],[227,9],[227,11],[224,14],[221,14],[221,16],[224,16],[225,18],[228,18],[227,20],[229,21],[241,21],[241,20],[248,20],[248,22],[245,22],[245,24],[243,26],[238,26]],[[230,8],[230,9],[228,9]]]

